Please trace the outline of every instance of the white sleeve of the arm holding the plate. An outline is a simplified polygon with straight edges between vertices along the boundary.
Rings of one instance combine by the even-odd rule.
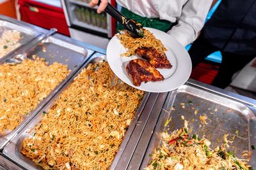
[[[184,46],[193,42],[204,26],[211,4],[212,0],[189,0],[182,8],[178,24],[168,34]]]

